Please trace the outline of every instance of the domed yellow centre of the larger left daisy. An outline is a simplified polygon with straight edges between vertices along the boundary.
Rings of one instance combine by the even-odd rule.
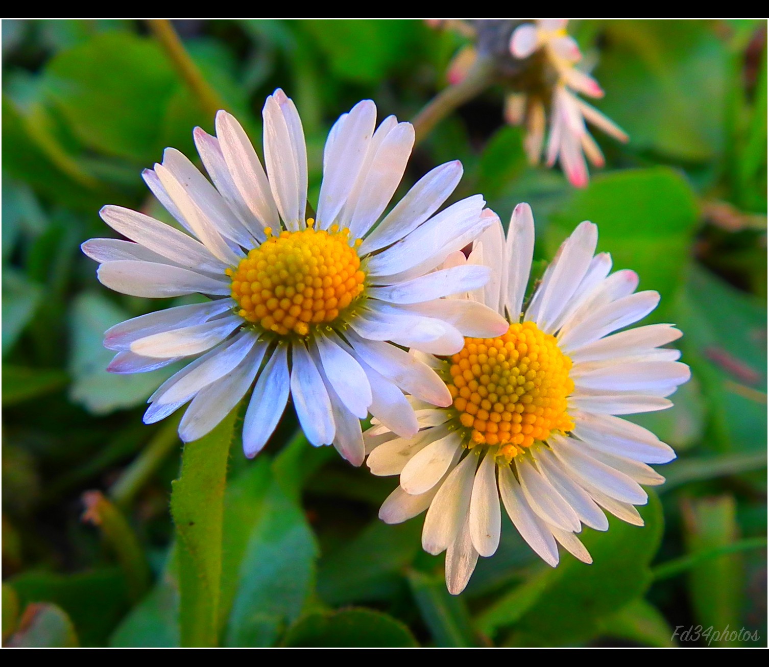
[[[280,335],[307,335],[311,325],[334,322],[364,289],[361,260],[338,225],[299,232],[266,230],[267,240],[228,268],[232,298],[247,322]],[[355,242],[355,247],[361,240]]]

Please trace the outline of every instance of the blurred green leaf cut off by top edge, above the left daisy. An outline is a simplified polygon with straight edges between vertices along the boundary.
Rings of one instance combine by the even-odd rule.
[[[358,83],[380,82],[414,58],[424,28],[415,21],[303,21],[305,30],[328,58],[337,77]]]

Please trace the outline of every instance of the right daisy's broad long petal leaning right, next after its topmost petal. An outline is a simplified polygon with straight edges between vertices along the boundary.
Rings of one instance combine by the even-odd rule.
[[[553,332],[550,325],[561,315],[588,272],[596,245],[598,227],[592,222],[582,222],[569,236],[554,262],[553,275],[542,295],[537,318],[537,326],[542,331]]]

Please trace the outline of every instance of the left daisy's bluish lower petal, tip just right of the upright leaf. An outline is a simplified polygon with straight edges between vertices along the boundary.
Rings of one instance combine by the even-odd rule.
[[[288,345],[279,343],[256,382],[243,422],[243,453],[252,459],[275,431],[288,401]]]

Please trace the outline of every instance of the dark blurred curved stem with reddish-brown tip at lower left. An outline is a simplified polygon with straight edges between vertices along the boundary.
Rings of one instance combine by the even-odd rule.
[[[98,526],[110,549],[115,552],[125,572],[128,595],[137,602],[149,587],[150,570],[145,552],[136,533],[122,512],[105,498],[101,491],[87,491],[82,495],[85,512],[83,521]]]

